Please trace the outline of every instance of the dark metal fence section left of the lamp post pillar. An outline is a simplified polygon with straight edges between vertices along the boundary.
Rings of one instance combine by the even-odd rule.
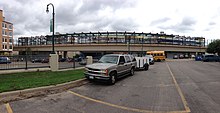
[[[48,68],[49,56],[16,55],[0,56],[0,70]]]

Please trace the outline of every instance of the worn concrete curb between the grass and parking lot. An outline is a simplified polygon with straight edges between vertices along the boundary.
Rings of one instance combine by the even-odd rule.
[[[79,87],[87,83],[87,79],[84,78],[63,84],[0,93],[0,104],[31,97],[60,93],[70,88]]]

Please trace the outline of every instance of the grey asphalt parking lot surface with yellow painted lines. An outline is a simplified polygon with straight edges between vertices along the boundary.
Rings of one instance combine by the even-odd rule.
[[[115,85],[88,83],[66,92],[0,105],[0,113],[219,113],[220,63],[156,62]]]

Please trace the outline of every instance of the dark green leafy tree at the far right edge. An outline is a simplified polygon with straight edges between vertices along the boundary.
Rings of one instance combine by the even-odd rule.
[[[209,43],[206,52],[208,53],[217,53],[220,56],[220,40],[214,40],[213,42]]]

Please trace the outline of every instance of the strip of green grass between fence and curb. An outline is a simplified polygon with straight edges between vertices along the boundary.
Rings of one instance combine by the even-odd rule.
[[[83,69],[0,75],[0,93],[70,82],[84,78]]]

